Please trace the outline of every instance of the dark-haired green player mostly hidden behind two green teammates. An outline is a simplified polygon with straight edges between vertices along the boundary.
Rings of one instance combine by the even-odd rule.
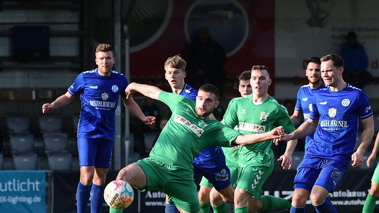
[[[230,100],[226,114],[228,113],[228,108],[235,100],[246,98],[248,95],[250,95],[253,91],[250,85],[250,76],[251,71],[243,71],[239,77],[238,77],[238,92],[241,94],[241,97],[233,98]],[[224,120],[221,121],[221,123],[224,123]],[[234,127],[234,130],[238,131],[238,126]],[[224,154],[225,154],[225,160],[227,163],[227,167],[230,170],[230,183],[235,189],[237,185],[237,177],[238,177],[238,154],[241,150],[241,146],[233,146],[233,147],[222,147]],[[212,188],[213,185],[207,180],[207,178],[202,178],[200,182],[200,186],[206,186]],[[210,193],[210,201],[212,207],[219,207],[222,206],[224,201],[223,198],[220,196],[220,194],[217,192],[215,188],[212,189]],[[213,212],[216,213],[226,213],[227,208],[225,207],[222,210],[213,209]]]

